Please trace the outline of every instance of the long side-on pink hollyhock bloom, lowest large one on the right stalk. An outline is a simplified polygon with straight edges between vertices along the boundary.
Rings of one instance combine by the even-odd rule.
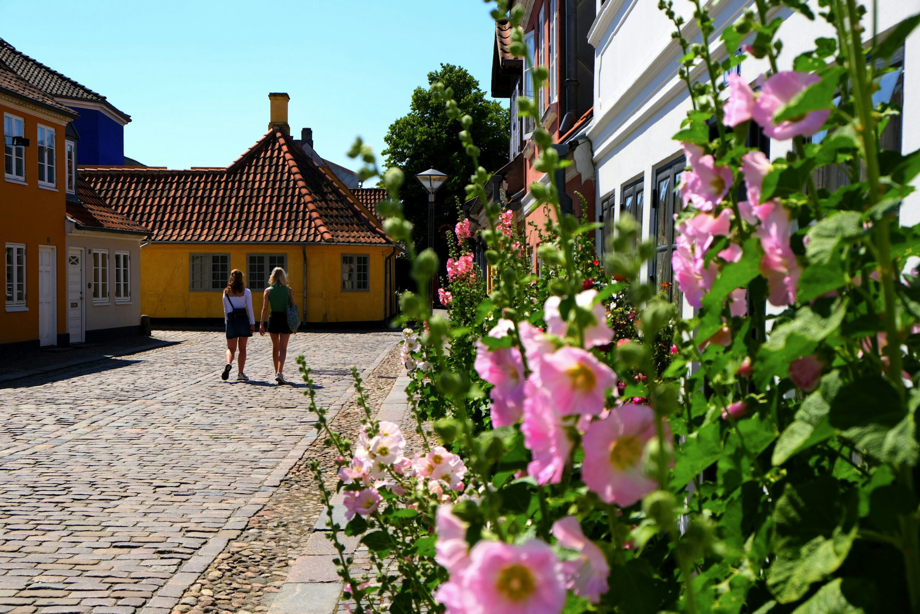
[[[760,272],[770,288],[770,303],[776,307],[795,303],[801,268],[789,247],[789,212],[779,201],[773,200],[757,207],[756,214],[761,225],[754,234],[760,237],[764,247]]]

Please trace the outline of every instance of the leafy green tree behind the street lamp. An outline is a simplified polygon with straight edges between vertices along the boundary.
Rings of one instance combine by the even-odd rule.
[[[510,115],[497,100],[487,100],[486,92],[465,68],[441,64],[441,69],[428,74],[429,85],[441,82],[454,88],[457,107],[473,118],[476,126],[473,138],[480,148],[479,164],[489,171],[508,162]],[[466,200],[465,186],[475,171],[457,134],[460,124],[444,114],[443,102],[438,102],[428,87],[416,87],[412,92],[409,112],[390,124],[384,141],[386,167],[399,167],[408,178],[399,196],[407,219],[415,226],[412,239],[417,246],[428,242],[428,192],[414,177],[423,170],[437,168],[450,178],[437,193],[439,213],[435,217],[435,249],[443,263],[447,258],[444,240],[445,226],[456,223],[456,198]]]

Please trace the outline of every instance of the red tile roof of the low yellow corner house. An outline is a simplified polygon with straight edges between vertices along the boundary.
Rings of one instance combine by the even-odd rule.
[[[154,241],[387,244],[360,207],[272,128],[227,168],[80,168]]]

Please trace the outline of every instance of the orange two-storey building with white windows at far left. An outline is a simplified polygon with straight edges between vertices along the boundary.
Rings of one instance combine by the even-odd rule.
[[[66,343],[64,184],[75,173],[64,129],[77,117],[0,63],[4,180],[0,181],[0,243],[5,305],[0,355]]]

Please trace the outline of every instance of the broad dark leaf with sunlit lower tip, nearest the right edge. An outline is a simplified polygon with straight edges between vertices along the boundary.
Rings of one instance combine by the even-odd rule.
[[[907,410],[898,391],[885,377],[862,377],[846,384],[830,403],[831,425],[872,457],[886,462],[895,457],[916,458],[916,442],[908,441],[913,434],[913,421],[910,425],[902,424]],[[895,427],[900,428],[886,443]],[[900,449],[901,446],[906,449]]]

